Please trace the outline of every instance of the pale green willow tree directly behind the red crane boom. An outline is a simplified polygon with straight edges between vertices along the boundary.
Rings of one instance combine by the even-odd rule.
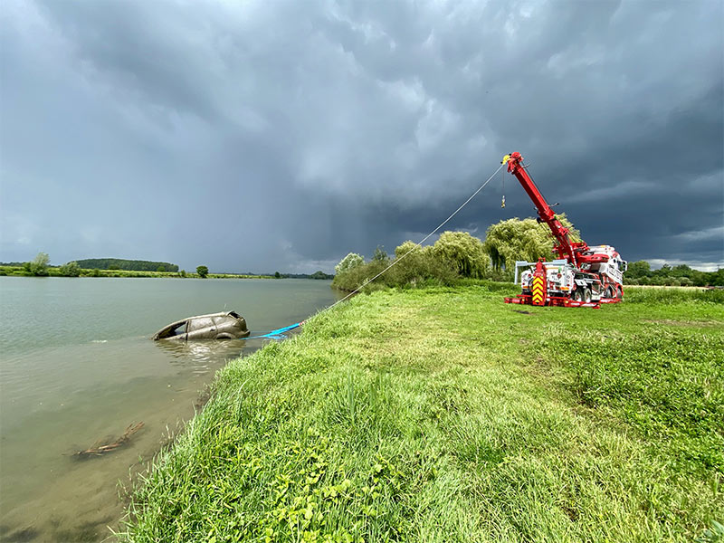
[[[568,236],[571,241],[581,241],[581,234],[566,214],[557,215],[557,219],[570,231]],[[553,258],[553,242],[548,224],[538,224],[536,219],[520,220],[516,217],[492,224],[486,233],[483,247],[491,257],[493,269],[507,271],[507,275],[512,277],[516,261],[536,262],[538,258]]]

